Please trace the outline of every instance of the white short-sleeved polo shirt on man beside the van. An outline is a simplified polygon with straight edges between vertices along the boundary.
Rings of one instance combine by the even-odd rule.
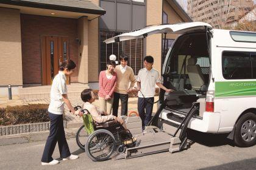
[[[160,82],[159,73],[155,69],[148,70],[146,68],[141,69],[138,72],[137,81],[140,82],[140,90],[144,97],[154,97],[155,95],[155,83]],[[141,92],[138,92],[138,97],[143,97]]]

